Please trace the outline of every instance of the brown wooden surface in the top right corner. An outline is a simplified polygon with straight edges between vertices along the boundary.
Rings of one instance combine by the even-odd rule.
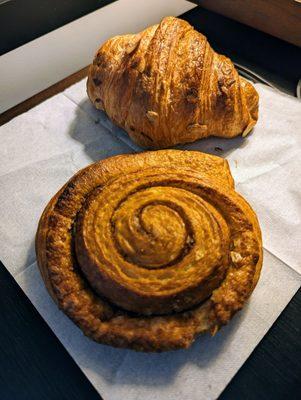
[[[301,4],[299,1],[196,0],[194,2],[208,10],[301,47]]]

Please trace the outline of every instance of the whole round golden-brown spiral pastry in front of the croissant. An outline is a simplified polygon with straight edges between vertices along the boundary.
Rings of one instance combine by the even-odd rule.
[[[227,162],[177,150],[78,172],[47,205],[36,253],[49,293],[87,336],[141,351],[215,333],[262,265],[256,215]]]

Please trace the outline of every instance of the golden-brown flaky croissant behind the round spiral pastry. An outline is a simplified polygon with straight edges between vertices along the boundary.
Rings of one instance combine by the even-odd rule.
[[[87,91],[96,108],[147,148],[246,135],[258,119],[254,87],[204,35],[174,17],[104,43]]]

